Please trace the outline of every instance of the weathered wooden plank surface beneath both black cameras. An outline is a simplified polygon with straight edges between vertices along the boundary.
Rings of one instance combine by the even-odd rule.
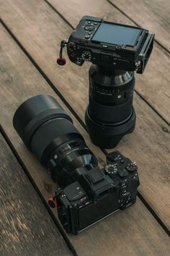
[[[170,255],[169,1],[1,0],[0,10],[0,255]],[[53,95],[104,165],[84,124],[89,64],[55,63],[61,40],[85,14],[146,27],[156,38],[146,72],[136,75],[135,131],[116,148],[138,163],[138,200],[73,236],[48,208],[57,185],[24,147],[12,116],[32,95]]]

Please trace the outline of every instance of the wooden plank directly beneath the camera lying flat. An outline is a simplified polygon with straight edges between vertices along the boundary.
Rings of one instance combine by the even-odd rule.
[[[45,168],[42,168],[24,147],[12,127],[12,116],[26,98],[40,93],[53,95],[71,118],[73,115],[6,31],[2,27],[0,31],[0,108],[3,110],[0,123],[43,197],[47,199],[53,195],[56,184],[50,179]],[[91,145],[84,129],[75,118],[73,121],[103,164],[105,157],[101,150]],[[58,218],[57,210],[54,210],[54,214]],[[115,213],[78,236],[68,235],[68,239],[81,256],[169,255],[170,249],[168,236],[139,199],[127,210]]]

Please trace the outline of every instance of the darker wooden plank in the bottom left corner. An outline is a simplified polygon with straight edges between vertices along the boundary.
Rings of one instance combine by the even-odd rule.
[[[0,255],[72,255],[1,133],[0,145]]]

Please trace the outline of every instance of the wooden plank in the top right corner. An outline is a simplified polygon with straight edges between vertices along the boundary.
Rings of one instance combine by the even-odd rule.
[[[165,0],[109,0],[140,27],[156,33],[156,40],[170,51],[170,1]]]

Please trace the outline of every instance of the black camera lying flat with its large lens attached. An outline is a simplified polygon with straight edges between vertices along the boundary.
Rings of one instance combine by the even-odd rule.
[[[13,124],[27,148],[60,185],[48,203],[58,207],[68,233],[78,234],[135,202],[139,185],[136,164],[114,152],[107,155],[107,166],[99,168],[70,116],[50,95],[37,95],[22,103]]]

